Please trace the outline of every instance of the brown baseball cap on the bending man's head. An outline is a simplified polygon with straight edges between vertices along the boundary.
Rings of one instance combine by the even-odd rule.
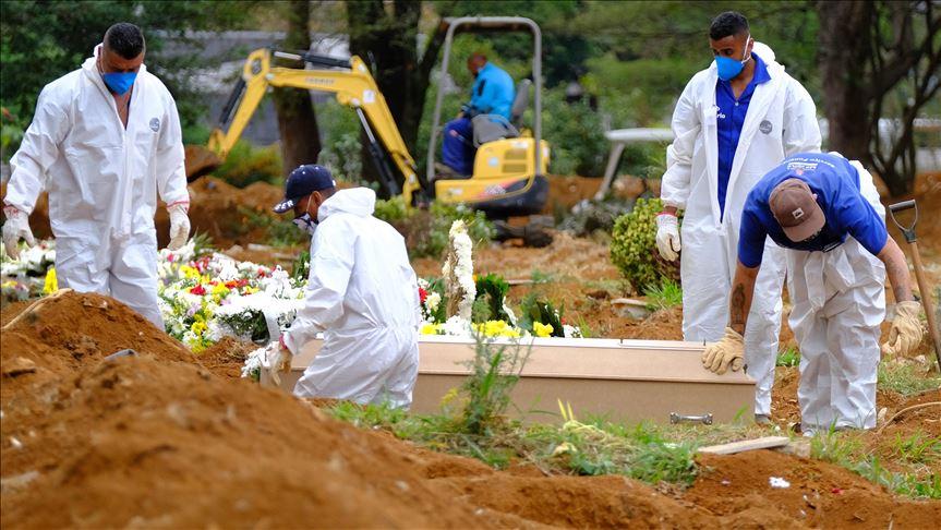
[[[787,179],[774,186],[768,204],[784,234],[795,243],[809,239],[827,222],[816,195],[800,179]]]

